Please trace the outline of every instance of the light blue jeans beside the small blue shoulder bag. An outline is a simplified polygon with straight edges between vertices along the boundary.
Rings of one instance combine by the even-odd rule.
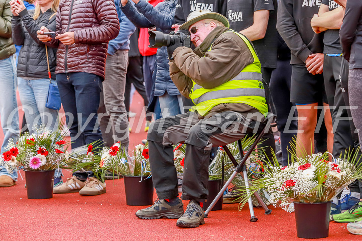
[[[52,80],[52,83],[55,84],[55,81]],[[44,124],[53,131],[57,129],[58,111],[45,107],[49,79],[25,80],[18,77],[18,89],[30,135],[36,132],[35,125]]]

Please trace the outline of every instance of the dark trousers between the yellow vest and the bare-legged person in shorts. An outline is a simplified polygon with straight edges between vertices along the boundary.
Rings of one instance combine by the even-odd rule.
[[[282,163],[288,165],[288,149],[293,139],[296,140],[298,122],[289,118],[296,117],[295,106],[290,102],[290,86],[292,77],[292,66],[290,60],[277,60],[277,68],[273,71],[270,79],[270,92],[277,111],[277,127],[280,132]],[[291,112],[292,111],[292,112]]]

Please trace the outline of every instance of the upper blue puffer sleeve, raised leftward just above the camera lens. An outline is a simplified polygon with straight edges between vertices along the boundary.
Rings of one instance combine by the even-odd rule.
[[[135,4],[137,10],[143,14],[151,24],[160,29],[171,29],[172,24],[174,24],[175,8],[172,9],[171,13],[163,14],[158,10],[162,8],[163,5],[164,2],[161,2],[153,7],[145,0],[140,0],[138,4]]]

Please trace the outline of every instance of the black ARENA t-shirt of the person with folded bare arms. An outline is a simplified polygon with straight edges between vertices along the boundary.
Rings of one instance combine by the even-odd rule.
[[[334,0],[322,0],[322,4],[329,6],[329,11],[339,7]],[[342,47],[339,41],[339,29],[328,29],[324,32],[324,54],[341,54]]]

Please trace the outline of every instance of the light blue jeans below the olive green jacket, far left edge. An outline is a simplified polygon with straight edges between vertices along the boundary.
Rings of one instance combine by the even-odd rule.
[[[4,132],[4,140],[1,152],[7,151],[10,138],[15,141],[19,138],[19,115],[16,99],[16,65],[15,56],[0,60],[0,122]],[[5,169],[0,167],[0,175],[10,176],[15,181],[18,178],[16,171],[9,174]]]

